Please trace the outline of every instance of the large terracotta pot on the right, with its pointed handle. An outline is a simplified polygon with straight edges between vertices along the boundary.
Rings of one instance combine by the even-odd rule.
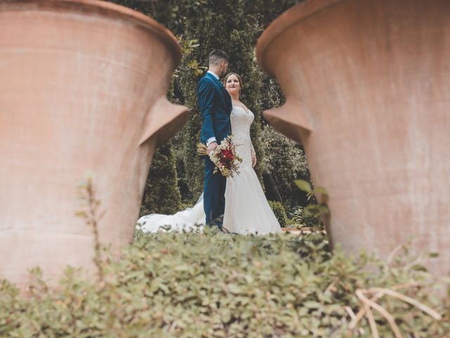
[[[409,237],[450,271],[450,1],[311,0],[259,39],[286,96],[264,117],[304,144],[333,244],[386,257]]]

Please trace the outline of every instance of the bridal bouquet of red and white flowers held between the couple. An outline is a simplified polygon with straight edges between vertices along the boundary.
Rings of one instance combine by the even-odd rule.
[[[200,142],[197,145],[197,153],[200,156],[209,156],[216,166],[214,174],[220,172],[225,177],[233,177],[233,174],[239,173],[239,163],[242,162],[242,158],[238,156],[235,146],[231,143],[232,137],[232,135],[226,137],[209,155],[206,144]]]

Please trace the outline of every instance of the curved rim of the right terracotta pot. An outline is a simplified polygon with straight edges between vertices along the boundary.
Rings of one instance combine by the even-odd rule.
[[[269,46],[290,27],[311,15],[333,6],[342,0],[310,0],[297,4],[278,16],[262,33],[257,41],[256,58],[259,68],[271,77],[276,77],[270,64],[266,64],[265,56]]]

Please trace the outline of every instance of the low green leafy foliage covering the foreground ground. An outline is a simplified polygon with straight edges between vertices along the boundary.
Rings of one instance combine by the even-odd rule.
[[[435,279],[409,264],[406,250],[385,265],[331,253],[316,234],[161,233],[139,234],[120,260],[103,256],[98,282],[68,268],[55,291],[34,270],[29,298],[1,282],[0,337],[372,337],[366,315],[349,330],[364,308],[361,294],[392,315],[402,337],[450,332],[448,299],[432,292]],[[410,296],[442,319],[370,294],[374,287]],[[394,337],[375,308],[371,316],[380,337]]]

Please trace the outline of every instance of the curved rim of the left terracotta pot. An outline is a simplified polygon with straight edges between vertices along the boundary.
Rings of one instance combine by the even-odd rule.
[[[79,7],[91,7],[103,14],[110,14],[120,18],[126,18],[128,20],[134,20],[142,27],[152,31],[160,38],[160,41],[167,46],[173,53],[174,66],[172,70],[176,68],[176,65],[181,61],[181,47],[178,40],[170,30],[158,23],[153,18],[144,15],[134,9],[113,4],[112,2],[103,0],[0,0],[0,12],[4,9],[22,9],[24,5],[33,5],[35,9],[39,8],[76,8]]]

